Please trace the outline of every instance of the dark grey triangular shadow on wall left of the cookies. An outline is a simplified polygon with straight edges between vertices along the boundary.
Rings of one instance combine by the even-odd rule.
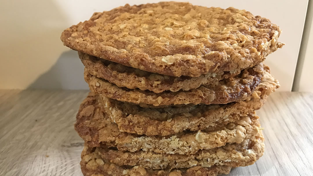
[[[56,63],[27,89],[89,89],[84,80],[84,65],[74,50],[63,52]]]

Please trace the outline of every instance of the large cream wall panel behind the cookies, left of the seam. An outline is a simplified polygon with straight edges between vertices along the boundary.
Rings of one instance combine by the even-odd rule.
[[[110,10],[125,3],[155,0],[11,0],[0,1],[0,88],[87,89],[83,65],[76,52],[62,45],[65,28],[90,18],[93,12]],[[280,80],[280,91],[292,88],[308,0],[194,0],[195,5],[233,6],[271,19],[283,33],[286,45],[271,54],[266,64]],[[295,10],[296,9],[296,10]]]

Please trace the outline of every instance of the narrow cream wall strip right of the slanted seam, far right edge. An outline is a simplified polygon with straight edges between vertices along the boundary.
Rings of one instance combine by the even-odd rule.
[[[313,92],[313,1],[309,3],[293,91]]]

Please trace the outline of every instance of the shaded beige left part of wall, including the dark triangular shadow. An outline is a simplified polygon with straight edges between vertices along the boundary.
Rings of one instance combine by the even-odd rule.
[[[1,1],[0,7],[0,88],[88,88],[77,53],[60,40],[73,22],[57,1]]]

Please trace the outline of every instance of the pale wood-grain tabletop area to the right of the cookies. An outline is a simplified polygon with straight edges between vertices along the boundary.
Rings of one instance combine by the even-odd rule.
[[[312,175],[312,100],[309,93],[273,93],[257,111],[264,127],[263,157],[254,165],[233,169],[230,175]]]

